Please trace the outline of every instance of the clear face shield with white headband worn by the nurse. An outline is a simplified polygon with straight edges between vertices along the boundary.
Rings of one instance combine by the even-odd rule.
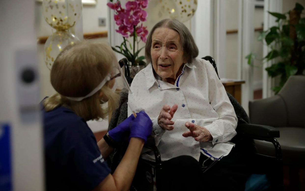
[[[81,101],[87,97],[92,96],[96,92],[102,89],[102,87],[107,83],[109,88],[113,92],[120,93],[120,92],[125,92],[125,93],[131,93],[130,87],[128,85],[127,79],[125,78],[125,75],[122,71],[122,68],[120,67],[120,64],[118,62],[113,63],[113,70],[111,73],[109,73],[103,80],[102,82],[95,88],[93,89],[89,94],[87,94],[84,97],[67,97],[70,100],[73,101]],[[104,102],[104,101],[102,101]]]

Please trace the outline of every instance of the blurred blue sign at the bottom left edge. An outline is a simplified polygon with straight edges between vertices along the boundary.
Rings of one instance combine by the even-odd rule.
[[[10,191],[12,187],[11,127],[0,123],[0,190]]]

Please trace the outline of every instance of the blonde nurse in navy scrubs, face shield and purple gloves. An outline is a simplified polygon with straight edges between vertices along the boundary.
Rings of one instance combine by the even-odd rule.
[[[111,47],[86,41],[67,46],[54,61],[51,84],[57,93],[41,104],[47,190],[129,190],[152,131],[149,116],[129,116],[98,143],[86,123],[105,118],[118,105],[117,90],[129,90]],[[110,174],[105,159],[126,133],[127,151]]]

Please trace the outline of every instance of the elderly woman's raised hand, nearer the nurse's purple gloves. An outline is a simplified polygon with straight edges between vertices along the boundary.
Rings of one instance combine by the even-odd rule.
[[[175,112],[177,111],[178,105],[174,104],[173,107],[169,105],[163,105],[160,115],[158,117],[158,124],[163,130],[173,130],[174,121],[173,119]]]

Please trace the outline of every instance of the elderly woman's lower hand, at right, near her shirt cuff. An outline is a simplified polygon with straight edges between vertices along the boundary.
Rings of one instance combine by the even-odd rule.
[[[186,122],[185,127],[189,129],[182,134],[183,137],[194,137],[196,141],[212,141],[213,137],[205,127],[200,127],[194,123]]]

